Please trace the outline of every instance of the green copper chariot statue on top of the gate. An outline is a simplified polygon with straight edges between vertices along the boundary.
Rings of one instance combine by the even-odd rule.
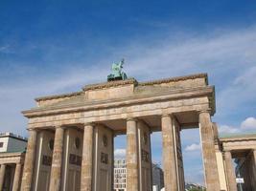
[[[127,74],[122,72],[125,60],[122,59],[119,63],[112,64],[112,73],[107,75],[107,81],[125,80],[128,78]]]

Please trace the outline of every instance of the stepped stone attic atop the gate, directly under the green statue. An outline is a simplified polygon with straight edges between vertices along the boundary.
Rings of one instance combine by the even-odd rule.
[[[38,107],[55,105],[58,102],[63,102],[69,99],[84,96],[86,99],[107,99],[116,97],[131,96],[135,94],[144,94],[153,92],[166,91],[169,89],[188,89],[205,87],[208,85],[207,74],[192,74],[186,76],[171,77],[160,80],[153,80],[138,83],[135,79],[129,78],[126,80],[111,81],[99,84],[86,85],[83,92],[75,92],[71,94],[63,94],[57,96],[43,96],[35,98]],[[84,101],[84,100],[82,100]]]

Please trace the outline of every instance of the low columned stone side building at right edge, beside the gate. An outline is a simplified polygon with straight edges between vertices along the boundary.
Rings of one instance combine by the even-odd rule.
[[[226,160],[224,162],[225,170],[219,170],[219,173],[225,174],[228,190],[234,190],[236,184],[234,182],[234,166],[232,161],[230,163],[230,152],[232,153],[232,158],[237,159],[238,171],[240,176],[244,178],[243,190],[256,190],[256,165],[254,160],[256,134],[222,135],[219,141],[221,143],[220,151],[223,153],[223,159]]]

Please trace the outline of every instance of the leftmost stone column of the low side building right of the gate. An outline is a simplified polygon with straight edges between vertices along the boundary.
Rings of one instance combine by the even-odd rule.
[[[225,169],[228,181],[228,190],[237,191],[236,174],[230,151],[224,151]]]

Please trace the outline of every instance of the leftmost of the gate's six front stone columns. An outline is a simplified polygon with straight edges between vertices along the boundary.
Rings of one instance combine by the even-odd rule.
[[[21,182],[22,191],[30,191],[32,187],[32,176],[34,171],[34,161],[35,161],[35,146],[36,146],[36,136],[37,132],[35,130],[29,130],[29,140],[27,144],[26,157],[24,162],[24,170]]]

